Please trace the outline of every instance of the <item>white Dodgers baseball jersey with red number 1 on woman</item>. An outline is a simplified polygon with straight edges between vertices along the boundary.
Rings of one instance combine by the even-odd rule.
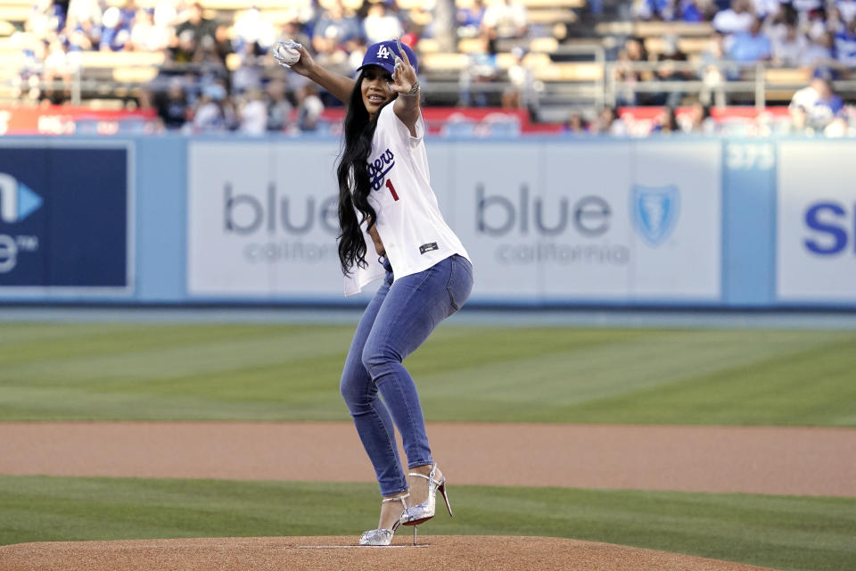
[[[377,213],[377,233],[395,279],[431,268],[454,254],[469,259],[464,245],[440,214],[431,188],[425,153],[425,124],[416,121],[416,137],[389,103],[380,112],[368,157],[372,190],[368,202]],[[363,225],[366,268],[354,267],[345,276],[345,295],[358,294],[369,282],[386,274],[374,255],[374,243]]]

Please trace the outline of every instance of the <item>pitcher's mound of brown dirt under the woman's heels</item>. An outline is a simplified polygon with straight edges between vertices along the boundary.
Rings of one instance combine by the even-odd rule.
[[[395,549],[358,547],[354,537],[41,542],[0,547],[0,570],[282,571],[283,569],[574,569],[575,571],[748,571],[714,559],[553,537],[427,535],[395,537]]]

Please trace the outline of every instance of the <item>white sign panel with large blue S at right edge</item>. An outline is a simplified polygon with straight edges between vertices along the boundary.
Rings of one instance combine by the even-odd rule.
[[[856,143],[778,146],[777,297],[856,300]]]

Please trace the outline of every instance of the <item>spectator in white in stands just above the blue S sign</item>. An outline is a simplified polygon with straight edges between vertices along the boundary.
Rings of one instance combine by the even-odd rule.
[[[844,101],[832,86],[832,71],[819,68],[814,71],[811,83],[794,94],[788,106],[794,129],[818,133],[839,130],[846,125]]]

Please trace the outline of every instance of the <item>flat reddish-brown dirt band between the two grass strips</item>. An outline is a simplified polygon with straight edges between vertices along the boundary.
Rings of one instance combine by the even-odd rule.
[[[428,424],[449,482],[856,496],[856,430]],[[0,474],[374,482],[350,423],[0,423]]]

